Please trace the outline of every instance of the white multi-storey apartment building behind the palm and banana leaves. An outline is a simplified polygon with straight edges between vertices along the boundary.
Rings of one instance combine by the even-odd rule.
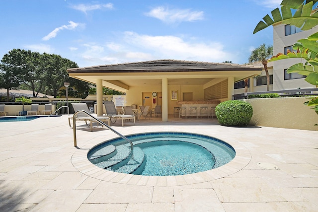
[[[318,32],[318,27],[310,30],[302,31],[300,28],[289,24],[275,24],[273,25],[273,54],[278,53],[287,54],[287,51],[293,51],[292,46],[302,38]],[[304,80],[306,76],[298,73],[287,73],[287,69],[297,63],[305,63],[306,60],[300,58],[285,59],[274,62],[269,62],[268,72],[270,74],[270,90],[291,90],[291,89],[304,89],[315,88]],[[261,62],[254,63],[255,66],[262,66]],[[266,74],[249,79],[248,92],[266,91]],[[244,82],[240,81],[235,83],[235,94],[244,93]]]

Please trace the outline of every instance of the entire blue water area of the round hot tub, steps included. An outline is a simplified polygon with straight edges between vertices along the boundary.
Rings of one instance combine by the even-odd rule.
[[[189,133],[147,133],[126,136],[134,144],[114,139],[93,147],[88,159],[120,173],[169,176],[220,167],[235,157],[234,148],[213,137]]]

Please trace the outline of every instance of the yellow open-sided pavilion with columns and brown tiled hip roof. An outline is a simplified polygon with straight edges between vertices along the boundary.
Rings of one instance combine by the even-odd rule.
[[[262,67],[229,63],[155,60],[68,69],[70,77],[96,84],[97,115],[102,87],[126,93],[127,105],[161,105],[168,121],[178,101],[226,101],[234,83],[261,74]]]

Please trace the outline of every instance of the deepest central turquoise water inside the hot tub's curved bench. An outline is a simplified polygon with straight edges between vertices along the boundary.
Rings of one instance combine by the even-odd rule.
[[[147,155],[142,175],[183,175],[212,169],[215,164],[211,152],[189,142],[152,141],[136,146]]]

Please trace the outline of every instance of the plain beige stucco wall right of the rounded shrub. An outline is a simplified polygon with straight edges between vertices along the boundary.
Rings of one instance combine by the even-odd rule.
[[[250,125],[318,131],[318,115],[306,97],[245,99],[253,107]]]

